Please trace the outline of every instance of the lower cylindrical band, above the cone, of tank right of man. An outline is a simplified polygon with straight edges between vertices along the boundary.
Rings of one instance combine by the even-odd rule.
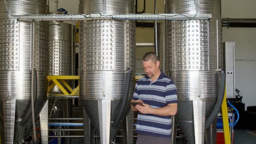
[[[218,73],[216,71],[176,70],[169,73],[179,88],[178,100],[217,100]]]

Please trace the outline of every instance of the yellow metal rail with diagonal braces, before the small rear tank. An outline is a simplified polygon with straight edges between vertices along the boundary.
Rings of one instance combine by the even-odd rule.
[[[47,79],[48,79],[47,95],[67,95],[67,96],[79,95],[79,85],[75,88],[72,88],[66,82],[66,80],[78,80],[79,81],[78,75],[50,75],[50,76],[47,76]],[[62,93],[61,94],[51,93],[51,89],[53,89],[54,86],[57,86],[61,90]],[[63,86],[65,86],[66,88]]]

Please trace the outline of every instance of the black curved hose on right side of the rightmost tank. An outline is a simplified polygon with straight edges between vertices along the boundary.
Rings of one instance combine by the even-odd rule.
[[[214,121],[214,119],[216,119],[219,113],[220,107],[222,107],[222,101],[224,98],[225,86],[226,86],[225,83],[226,83],[226,74],[222,71],[222,73],[220,73],[220,87],[219,87],[219,95],[218,95],[217,103],[211,115],[208,117],[207,121],[205,122],[206,128],[211,126],[211,123]]]

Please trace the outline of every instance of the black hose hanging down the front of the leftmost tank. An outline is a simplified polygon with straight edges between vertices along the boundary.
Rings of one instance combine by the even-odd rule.
[[[34,70],[34,86],[33,86],[33,89],[34,89],[34,93],[33,93],[32,96],[34,97],[34,104],[36,105],[36,99],[37,99],[37,70]],[[32,113],[32,109],[31,109],[31,103],[30,103],[30,106],[28,107],[25,116],[22,117],[22,120],[20,122],[21,127],[23,127],[27,123],[28,119],[31,116],[31,113]]]

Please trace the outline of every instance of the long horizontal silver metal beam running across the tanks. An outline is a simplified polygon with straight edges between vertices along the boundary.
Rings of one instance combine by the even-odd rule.
[[[209,20],[211,14],[78,14],[78,15],[12,15],[19,21],[77,20]]]

